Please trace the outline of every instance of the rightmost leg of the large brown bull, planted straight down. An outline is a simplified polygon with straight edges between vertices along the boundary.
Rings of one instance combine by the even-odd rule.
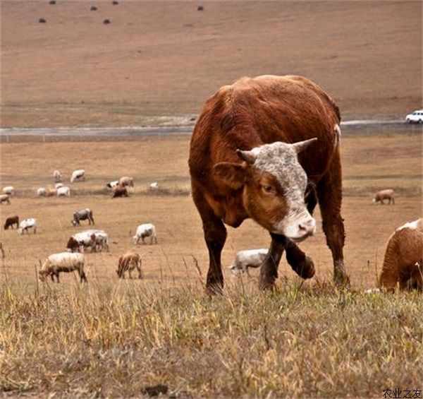
[[[333,156],[331,169],[317,184],[317,198],[326,244],[332,252],[333,280],[337,285],[349,285],[350,279],[343,260],[345,230],[341,218],[342,180],[339,151]]]

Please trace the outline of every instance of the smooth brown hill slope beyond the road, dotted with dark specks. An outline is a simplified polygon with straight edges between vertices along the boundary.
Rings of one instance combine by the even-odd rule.
[[[312,78],[344,118],[422,106],[421,1],[0,4],[1,126],[197,114],[221,85],[264,73]]]

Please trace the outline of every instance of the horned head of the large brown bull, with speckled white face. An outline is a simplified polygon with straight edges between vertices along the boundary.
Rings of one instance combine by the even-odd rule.
[[[236,150],[242,164],[219,162],[216,177],[231,188],[243,189],[247,213],[269,232],[302,241],[316,231],[316,220],[305,206],[307,175],[298,162],[298,153],[317,138],[288,144],[277,141]]]

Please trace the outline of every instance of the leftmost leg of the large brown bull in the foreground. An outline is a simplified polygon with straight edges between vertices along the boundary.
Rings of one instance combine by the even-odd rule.
[[[223,273],[221,251],[226,242],[226,227],[218,218],[201,193],[192,190],[192,199],[200,213],[204,231],[204,239],[209,250],[209,271],[206,287],[209,294],[221,294],[223,289]]]

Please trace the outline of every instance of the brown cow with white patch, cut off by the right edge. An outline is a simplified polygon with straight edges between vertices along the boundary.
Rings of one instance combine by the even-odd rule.
[[[386,244],[379,285],[388,291],[399,286],[423,289],[423,220],[398,227]]]

